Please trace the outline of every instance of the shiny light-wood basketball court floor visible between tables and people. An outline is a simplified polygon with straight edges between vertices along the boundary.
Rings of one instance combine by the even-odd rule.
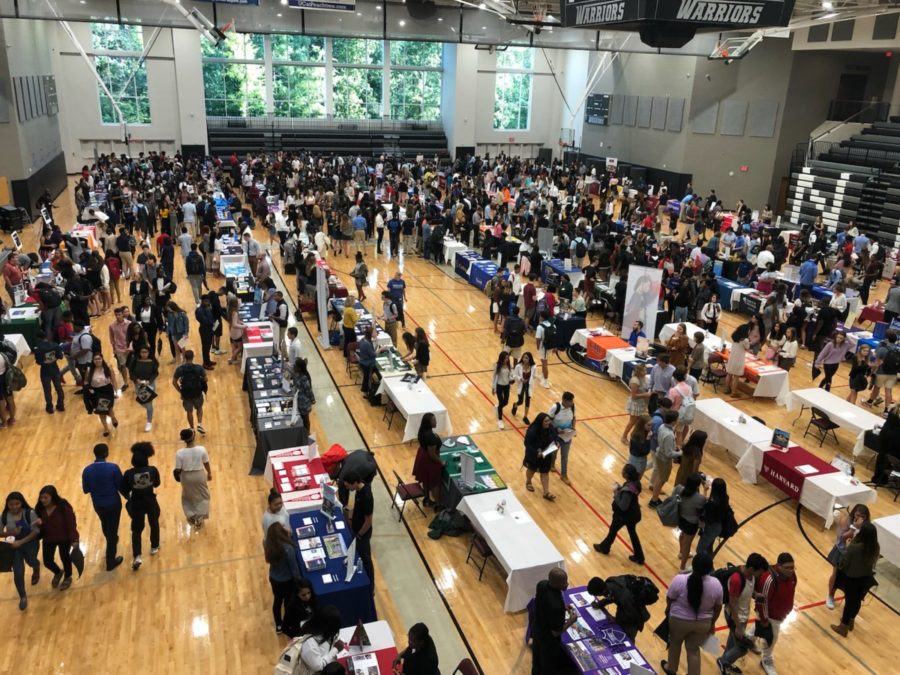
[[[60,222],[71,222],[71,196],[67,192],[58,199]],[[256,231],[257,238],[265,234]],[[27,233],[26,246],[33,241]],[[277,254],[276,254],[277,257]],[[332,256],[329,261],[344,282],[352,284],[348,272],[352,259]],[[387,279],[398,269],[398,261],[376,259],[374,248],[368,248],[367,262],[372,272],[367,302],[379,313],[378,293]],[[569,362],[562,354],[551,365],[549,390],[535,388],[532,418],[548,409],[564,390],[576,397],[579,436],[570,456],[571,487],[562,484],[555,474],[552,491],[558,499],[549,503],[540,493],[524,489],[521,468],[525,427],[507,412],[506,429],[496,424],[494,400],[491,398],[491,368],[500,350],[499,337],[493,333],[487,316],[487,298],[454,278],[449,269],[438,268],[417,257],[402,260],[408,284],[406,306],[407,329],[422,326],[432,340],[432,361],[428,384],[447,406],[455,433],[468,433],[486,453],[510,488],[541,526],[566,560],[572,585],[583,585],[594,575],[638,573],[652,578],[664,590],[677,572],[677,539],[672,530],[659,525],[655,515],[644,509],[639,526],[647,565],[638,567],[627,560],[629,550],[618,541],[609,557],[600,556],[592,544],[605,536],[610,518],[611,485],[618,479],[627,458],[627,448],[619,437],[627,421],[624,412],[626,390]],[[176,280],[184,281],[184,272],[176,263]],[[293,292],[294,280],[284,277]],[[887,284],[881,282],[874,297],[883,297]],[[293,293],[292,293],[293,294]],[[177,299],[190,308],[188,285],[183,283]],[[108,341],[106,326],[109,315],[98,321],[99,334]],[[195,330],[192,321],[192,329]],[[307,320],[312,336],[316,327]],[[593,321],[589,322],[593,323]],[[730,330],[738,317],[729,315],[722,330]],[[196,336],[192,337],[199,344]],[[529,338],[527,347],[534,348]],[[313,430],[327,447],[331,411],[346,405],[366,443],[376,453],[382,475],[392,470],[405,477],[412,471],[415,455],[413,444],[401,441],[402,424],[392,429],[382,422],[382,410],[363,400],[357,385],[347,377],[339,350],[321,351],[331,376],[339,387],[342,400],[323,400],[313,413]],[[810,385],[809,352],[801,352],[797,367],[791,373],[794,388]],[[128,569],[130,533],[123,513],[120,528],[120,552],[126,564],[113,574],[100,571],[103,540],[99,523],[90,502],[81,494],[82,467],[91,460],[91,448],[102,441],[97,420],[85,414],[80,399],[71,396],[66,387],[67,411],[53,416],[43,412],[43,401],[37,386],[37,369],[26,373],[29,386],[17,396],[18,423],[0,431],[0,462],[4,495],[21,490],[30,500],[40,487],[53,483],[74,505],[79,517],[82,547],[86,549],[87,570],[72,589],[64,594],[50,591],[45,576],[29,595],[30,606],[22,614],[16,607],[16,594],[9,576],[0,582],[0,670],[12,672],[267,672],[284,640],[271,629],[269,607],[271,595],[266,580],[266,565],[260,548],[259,519],[265,504],[267,486],[261,477],[248,477],[247,464],[253,447],[247,419],[245,394],[235,369],[225,365],[210,377],[210,396],[206,406],[206,445],[210,449],[214,479],[212,521],[202,532],[190,533],[180,509],[180,491],[171,478],[174,451],[179,447],[177,433],[184,425],[184,413],[174,391],[170,391],[173,366],[164,358],[159,379],[161,396],[156,400],[156,420],[151,434],[143,432],[143,409],[125,396],[117,403],[122,420],[109,441],[112,459],[127,467],[128,447],[137,440],[151,439],[157,447],[155,462],[163,477],[160,493],[162,506],[162,551],[159,556],[144,556],[138,573]],[[847,391],[847,369],[842,366],[836,377],[836,394]],[[713,396],[712,387],[703,385],[703,396]],[[790,429],[799,437],[805,425],[793,424],[796,413],[777,406],[768,399],[729,399],[751,415],[762,417],[770,427]],[[852,439],[838,431],[840,448],[826,444],[816,449],[810,441],[805,445],[830,460],[840,450],[849,453]],[[781,499],[781,493],[766,483],[742,483],[734,461],[723,448],[707,448],[703,470],[728,481],[732,504],[739,519]],[[861,477],[871,471],[865,457],[858,464]],[[642,503],[646,504],[646,493]],[[379,509],[387,509],[379,504]],[[873,516],[896,513],[898,507],[884,491],[872,506]],[[479,582],[477,571],[465,564],[468,540],[443,537],[433,541],[426,536],[428,520],[418,512],[407,510],[407,525],[421,550],[437,591],[452,611],[456,622],[471,646],[485,673],[530,672],[530,653],[524,648],[524,613],[506,614],[505,575],[493,561]],[[796,505],[782,504],[771,508],[741,528],[719,553],[717,566],[726,561],[739,562],[752,551],[770,560],[781,551],[790,551],[796,561],[799,585],[796,611],[786,621],[776,648],[776,663],[781,672],[821,673],[888,673],[895,672],[893,649],[896,629],[900,626],[897,607],[896,569],[882,563],[881,585],[876,593],[881,600],[869,596],[847,639],[829,629],[836,623],[839,609],[824,606],[829,567],[823,555],[828,552],[833,532],[823,531],[817,516],[801,511]],[[146,535],[145,535],[146,537]],[[527,547],[528,542],[522,542]],[[146,541],[145,541],[146,547]],[[379,567],[376,547],[376,568]],[[391,570],[396,579],[397,570]],[[400,572],[402,578],[403,572]],[[45,572],[46,575],[46,572]],[[391,623],[398,642],[408,625],[399,619],[396,605],[423,596],[421,590],[402,583],[384,583],[378,570],[376,603],[379,613]],[[31,590],[31,589],[30,589]],[[395,602],[396,599],[396,602]],[[652,635],[652,627],[663,616],[664,600],[650,608],[652,619],[638,636],[638,646],[654,667],[664,657],[662,643]],[[724,621],[721,622],[724,627]],[[724,642],[725,632],[720,631]],[[705,672],[715,669],[713,660],[703,656]],[[442,663],[449,673],[456,664]],[[740,664],[744,672],[761,672],[758,659],[745,657]],[[684,666],[682,666],[682,670]]]

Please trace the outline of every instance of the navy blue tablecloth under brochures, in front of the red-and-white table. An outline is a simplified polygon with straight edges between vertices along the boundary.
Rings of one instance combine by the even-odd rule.
[[[298,541],[297,528],[304,524],[303,520],[305,518],[312,519],[317,537],[329,534],[326,530],[328,519],[319,511],[294,513],[291,515],[291,537],[294,543]],[[339,514],[334,519],[334,524],[337,525],[337,523],[345,523],[343,517]],[[344,539],[344,544],[349,548],[352,540],[350,525],[345,524],[344,529],[335,529],[334,531],[340,533]],[[340,610],[342,628],[355,626],[360,621],[363,623],[377,621],[375,599],[372,596],[372,584],[362,568],[362,563],[357,564],[358,569],[349,583],[344,581],[347,573],[346,558],[326,558],[326,564],[323,569],[310,572],[303,565],[303,559],[298,550],[297,563],[300,565],[300,573],[312,583],[313,593],[316,595],[319,607],[334,605]],[[326,584],[322,580],[325,574],[336,576],[338,580]]]

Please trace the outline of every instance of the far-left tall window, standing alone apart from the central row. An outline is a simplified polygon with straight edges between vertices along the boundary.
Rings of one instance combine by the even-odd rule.
[[[150,124],[150,95],[147,89],[147,64],[141,62],[144,41],[140,26],[91,24],[94,68],[115,99],[128,124]],[[118,113],[109,96],[97,85],[100,119],[118,124]]]

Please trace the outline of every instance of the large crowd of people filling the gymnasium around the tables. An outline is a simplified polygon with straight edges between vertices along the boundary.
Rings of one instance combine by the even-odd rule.
[[[92,196],[101,184],[106,201],[98,206]],[[625,189],[620,190],[622,187]],[[726,481],[701,472],[707,439],[703,432],[692,431],[691,424],[701,395],[699,379],[707,364],[703,333],[688,335],[686,324],[693,322],[717,332],[722,305],[715,262],[735,261],[739,281],[756,283],[761,289],[768,285],[769,292],[760,312],[730,336],[733,344],[724,364],[726,391],[736,390],[743,378],[746,354],[762,355],[790,370],[801,348],[813,352],[814,379],[824,374],[819,386],[829,389],[849,349],[845,336],[837,332],[838,322],[849,311],[846,292],[858,292],[867,300],[881,277],[886,247],[852,223],[829,234],[821,219],[804,225],[799,240],[788,245],[777,230],[767,227],[772,220],[768,206],[760,216],[763,226],[751,228],[752,211],[741,200],[734,208],[733,227],[723,229],[722,200],[714,191],[701,199],[691,186],[681,200],[680,217],[675,217],[666,212],[668,189],[664,184],[648,190],[645,185],[620,182],[613,175],[598,175],[589,167],[558,160],[543,163],[501,155],[459,158],[441,166],[425,158],[364,160],[284,152],[202,162],[156,153],[137,158],[102,157],[96,166],[85,167],[75,188],[79,221],[96,226],[96,247],[50,223],[40,246],[50,261],[51,280],[27,285],[27,267],[32,263],[11,256],[3,268],[4,281],[11,298],[24,290],[27,300],[40,308],[42,339],[35,355],[47,414],[67,411],[63,384],[71,374],[77,387],[73,394],[81,395],[86,411],[98,417],[104,437],[115,433],[119,424],[116,406],[129,388],[135,404],[145,410],[145,431],[152,431],[153,401],[161,393],[157,386],[159,361],[168,345],[168,365],[176,366],[172,387],[187,418],[187,428],[180,434],[184,447],[175,456],[174,478],[181,484],[185,517],[196,529],[202,528],[209,516],[210,457],[197,445],[197,434],[206,433],[204,399],[209,374],[217,365],[212,356],[227,354],[229,364],[239,363],[244,337],[233,282],[222,279],[221,284],[215,283],[218,288],[210,288],[222,271],[222,231],[215,199],[219,192],[227,217],[240,233],[253,283],[262,291],[263,314],[273,323],[278,353],[286,363],[286,379],[307,429],[315,405],[307,361],[301,356],[297,329],[288,327],[288,305],[272,279],[272,258],[252,230],[264,229],[268,246],[273,251],[277,248],[285,266],[295,270],[301,309],[314,304],[319,283],[317,260],[330,256],[349,261],[352,256],[350,278],[355,292],[351,291],[349,301],[333,318],[341,327],[345,354],[353,350],[358,357],[362,391],[367,395],[377,349],[371,328],[357,338],[355,300],[378,303],[373,313],[419,376],[427,376],[431,358],[426,331],[422,327],[406,330],[407,288],[401,271],[387,281],[380,297],[367,297],[371,292],[367,260],[371,261],[373,245],[375,256],[418,255],[440,263],[448,262],[443,260],[443,244],[445,236],[450,236],[480,250],[485,258],[499,255],[501,269],[485,288],[488,318],[502,345],[491,364],[497,426],[504,429],[507,407],[512,417],[523,411],[527,427],[522,462],[525,489],[536,490],[533,479],[537,474],[541,495],[548,502],[556,500],[550,489],[554,470],[563,483],[572,483],[568,462],[577,436],[572,392],[564,392],[533,420],[529,417],[535,382],[551,386],[548,361],[556,347],[557,309],[584,316],[599,303],[621,321],[626,315],[630,267],[661,269],[659,295],[650,298],[650,304],[669,310],[678,327],[663,345],[656,364],[649,371],[636,366],[628,383],[628,422],[621,437],[628,461],[621,470],[622,483],[613,487],[608,534],[594,548],[609,554],[619,531],[625,528],[632,547],[629,560],[645,563],[638,536],[643,480],[650,471],[648,506],[660,508],[677,464],[674,492],[679,496],[677,566],[681,573],[666,595],[669,652],[663,671],[676,672],[684,648],[688,672],[699,672],[699,648],[724,612],[729,637],[718,659],[721,672],[740,672],[734,663],[754,647],[754,638],[765,643],[764,670],[774,672],[772,649],[780,622],[793,605],[794,560],[790,553],[782,552],[777,562],[769,565],[754,553],[739,568],[714,571],[715,544],[734,535],[736,522]],[[283,208],[270,209],[270,198],[277,198]],[[52,215],[52,201],[46,206]],[[687,227],[680,230],[679,222]],[[541,281],[543,255],[537,245],[541,228],[553,231],[551,253],[571,259],[582,270],[583,279],[577,284],[567,275]],[[521,242],[515,255],[509,254],[507,245],[512,237]],[[837,263],[828,269],[826,259],[832,255],[837,256]],[[178,257],[181,265],[176,273]],[[785,263],[800,268],[794,294],[777,275]],[[819,266],[833,291],[831,299],[822,303],[814,302],[811,295]],[[192,317],[174,299],[178,288],[174,279],[182,276],[194,302]],[[599,293],[598,287],[611,278],[617,281],[610,292]],[[900,313],[897,284],[894,279],[888,293],[888,321]],[[101,338],[92,321],[110,312],[108,335]],[[221,344],[226,326],[229,342],[225,347],[230,348]],[[647,338],[643,327],[640,320],[631,327],[632,345]],[[194,330],[201,344],[198,363],[190,348],[189,336]],[[285,339],[281,339],[282,330]],[[535,339],[534,352],[525,346],[529,334]],[[848,397],[856,402],[859,392],[868,390],[864,404],[884,402],[887,421],[883,433],[889,438],[893,438],[891,433],[900,437],[900,405],[893,405],[891,395],[900,372],[896,342],[896,334],[889,331],[877,349],[862,349],[854,355]],[[0,421],[14,424],[15,393],[0,390],[0,400]],[[445,495],[439,456],[442,439],[435,433],[435,425],[434,415],[424,416],[413,474],[425,489],[426,503],[439,510]],[[142,565],[145,524],[150,529],[151,555],[160,550],[155,490],[163,488],[159,471],[152,465],[153,445],[134,444],[132,466],[124,474],[107,461],[105,444],[98,444],[94,452],[96,461],[85,469],[84,490],[91,495],[106,537],[107,569],[115,569],[123,561],[117,553],[121,496],[132,520],[132,568],[137,570]],[[371,455],[359,453],[363,451],[343,458],[329,474],[345,507],[350,493],[354,494],[352,512],[346,514],[348,526],[374,589],[370,542],[375,467]],[[879,462],[884,469],[882,456]],[[876,472],[878,469],[876,466]],[[304,578],[288,514],[274,491],[262,522],[275,631],[294,638],[284,655],[306,669],[285,672],[343,672],[337,662],[344,646],[338,637],[340,613],[334,606],[320,605]],[[21,493],[11,493],[2,525],[2,534],[15,538],[13,571],[21,609],[27,607],[26,565],[33,570],[31,583],[39,583],[39,535],[43,535],[44,566],[54,575],[53,587],[66,590],[71,586],[72,566],[77,563],[73,553],[78,549],[75,513],[52,485],[42,488],[34,509]],[[846,636],[853,629],[878,555],[865,507],[857,507],[840,523],[835,549],[838,553],[829,556],[835,574],[828,598],[833,604],[834,589],[844,590],[844,612],[832,628]],[[61,568],[55,562],[57,553]],[[533,672],[539,674],[564,672],[572,665],[559,644],[560,633],[573,616],[561,601],[567,579],[560,572],[554,571],[537,588]],[[624,611],[633,608],[624,592],[614,593],[617,581],[598,579],[593,586],[598,589],[594,593],[598,603],[614,602],[623,610],[623,626],[633,633],[643,627],[641,612],[635,618],[634,612]],[[755,634],[748,630],[754,613]],[[428,628],[421,623],[413,625],[408,639],[409,647],[398,656],[403,672],[434,675],[437,653]]]

